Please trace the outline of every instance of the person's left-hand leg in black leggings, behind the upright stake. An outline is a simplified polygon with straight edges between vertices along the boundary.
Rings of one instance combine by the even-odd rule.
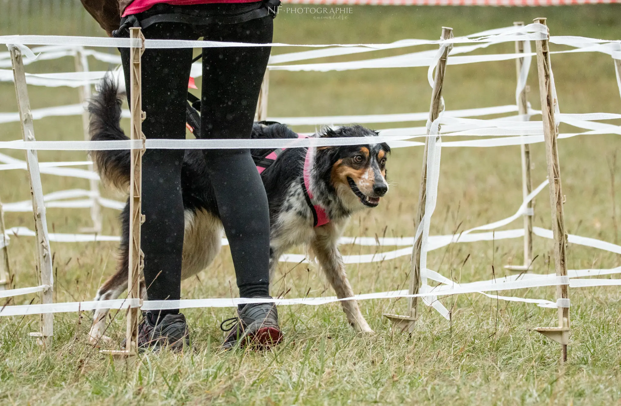
[[[158,23],[143,30],[146,38],[196,39],[184,24]],[[129,48],[122,48],[126,88]],[[147,49],[142,55],[142,109],[147,138],[186,137],[186,94],[192,49]],[[129,99],[129,91],[127,94]],[[140,246],[145,253],[144,276],[149,300],[178,300],[181,295],[181,252],[184,213],[181,165],[184,150],[147,150],[142,158],[142,225]],[[165,314],[178,310],[162,310]],[[156,312],[159,313],[159,312]],[[158,314],[155,314],[157,317]],[[155,322],[155,320],[152,320]]]

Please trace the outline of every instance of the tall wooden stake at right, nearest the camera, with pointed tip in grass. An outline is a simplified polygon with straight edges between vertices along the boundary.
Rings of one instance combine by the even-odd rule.
[[[537,18],[535,23],[546,25],[545,18]],[[549,37],[549,34],[548,34]],[[542,104],[543,135],[545,137],[548,179],[550,180],[550,207],[552,209],[552,232],[554,235],[554,268],[556,276],[567,276],[567,235],[563,218],[563,192],[561,191],[561,168],[558,158],[558,127],[555,122],[555,104],[558,101],[552,92],[550,48],[548,40],[537,40],[537,72],[539,94]],[[568,285],[556,286],[556,299],[568,302]],[[537,328],[538,332],[552,338],[563,346],[561,362],[567,361],[569,338],[569,307],[558,307],[558,328]]]

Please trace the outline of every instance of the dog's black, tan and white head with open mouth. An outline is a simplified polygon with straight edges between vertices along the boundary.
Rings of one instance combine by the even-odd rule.
[[[361,125],[325,129],[323,137],[377,137],[378,133]],[[358,210],[377,207],[388,192],[386,160],[390,147],[386,143],[319,147],[315,159],[317,173],[335,191],[343,207]]]

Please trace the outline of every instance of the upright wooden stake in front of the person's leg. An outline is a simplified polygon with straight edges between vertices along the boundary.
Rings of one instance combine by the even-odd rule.
[[[142,48],[130,48],[130,138],[132,140],[142,140],[143,145],[145,136],[142,133],[142,121],[146,118],[142,111],[142,68],[141,56],[144,52],[145,37],[139,27],[129,29],[130,38],[142,39]],[[129,196],[129,278],[127,279],[127,299],[140,299],[140,275],[144,268],[144,254],[140,249],[140,226],[145,221],[145,216],[141,212],[142,206],[142,150],[130,150],[130,196]],[[138,312],[137,307],[127,310],[127,333],[125,335],[124,351],[100,351],[105,354],[112,354],[126,358],[137,354],[138,350]]]

